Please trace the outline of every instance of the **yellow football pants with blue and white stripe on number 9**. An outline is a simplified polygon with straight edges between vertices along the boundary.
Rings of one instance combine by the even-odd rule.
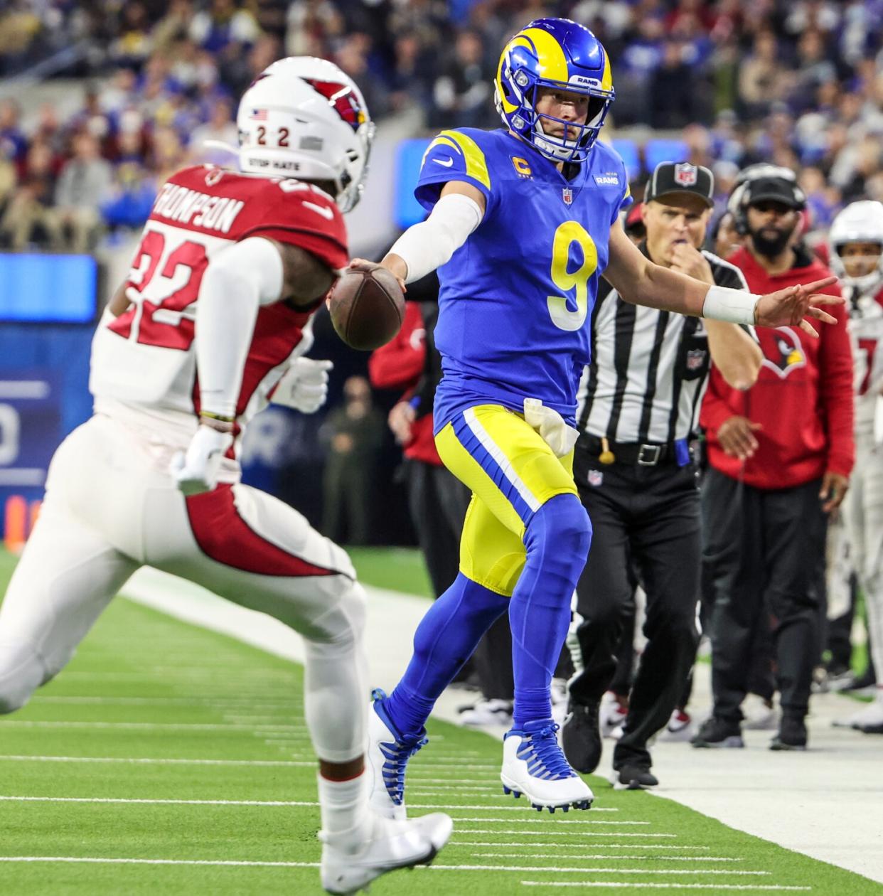
[[[467,408],[435,436],[444,465],[472,490],[460,572],[510,597],[524,566],[522,538],[555,495],[576,495],[573,452],[562,458],[524,418],[496,404]]]

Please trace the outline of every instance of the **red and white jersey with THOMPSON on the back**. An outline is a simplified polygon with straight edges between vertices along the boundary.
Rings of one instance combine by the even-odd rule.
[[[317,187],[223,168],[184,168],[162,186],[126,280],[132,305],[105,311],[92,341],[95,409],[149,418],[166,441],[196,426],[200,390],[194,321],[212,255],[246,237],[299,246],[335,270],[347,264],[347,233],[335,203]],[[313,311],[261,306],[236,402],[237,429],[261,410],[292,358],[310,348]],[[166,426],[161,426],[161,424]],[[185,444],[185,443],[184,443]]]

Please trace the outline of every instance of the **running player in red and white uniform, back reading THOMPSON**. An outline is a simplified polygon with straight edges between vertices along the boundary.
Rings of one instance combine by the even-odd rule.
[[[244,93],[237,125],[240,171],[169,178],[99,323],[95,414],[56,452],[0,611],[0,712],[64,668],[141,565],[275,616],[304,636],[322,884],[349,893],[429,860],[450,818],[369,810],[364,591],[341,548],[239,482],[237,455],[267,401],[323,401],[327,362],[300,356],[347,265],[341,212],[361,193],[373,124],[336,65],[293,57]]]

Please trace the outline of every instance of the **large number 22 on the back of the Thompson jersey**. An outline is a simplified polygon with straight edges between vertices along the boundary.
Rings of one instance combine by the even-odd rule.
[[[108,324],[126,340],[187,351],[193,343],[193,316],[184,311],[199,297],[209,262],[206,248],[174,232],[150,228],[132,265],[125,295],[133,304]],[[160,265],[161,263],[161,265]]]

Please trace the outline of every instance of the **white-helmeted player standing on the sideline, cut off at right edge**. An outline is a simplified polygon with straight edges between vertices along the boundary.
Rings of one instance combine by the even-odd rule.
[[[828,242],[858,349],[855,466],[843,507],[844,534],[864,592],[878,676],[876,699],[849,724],[883,734],[883,203],[847,205],[831,225]]]

